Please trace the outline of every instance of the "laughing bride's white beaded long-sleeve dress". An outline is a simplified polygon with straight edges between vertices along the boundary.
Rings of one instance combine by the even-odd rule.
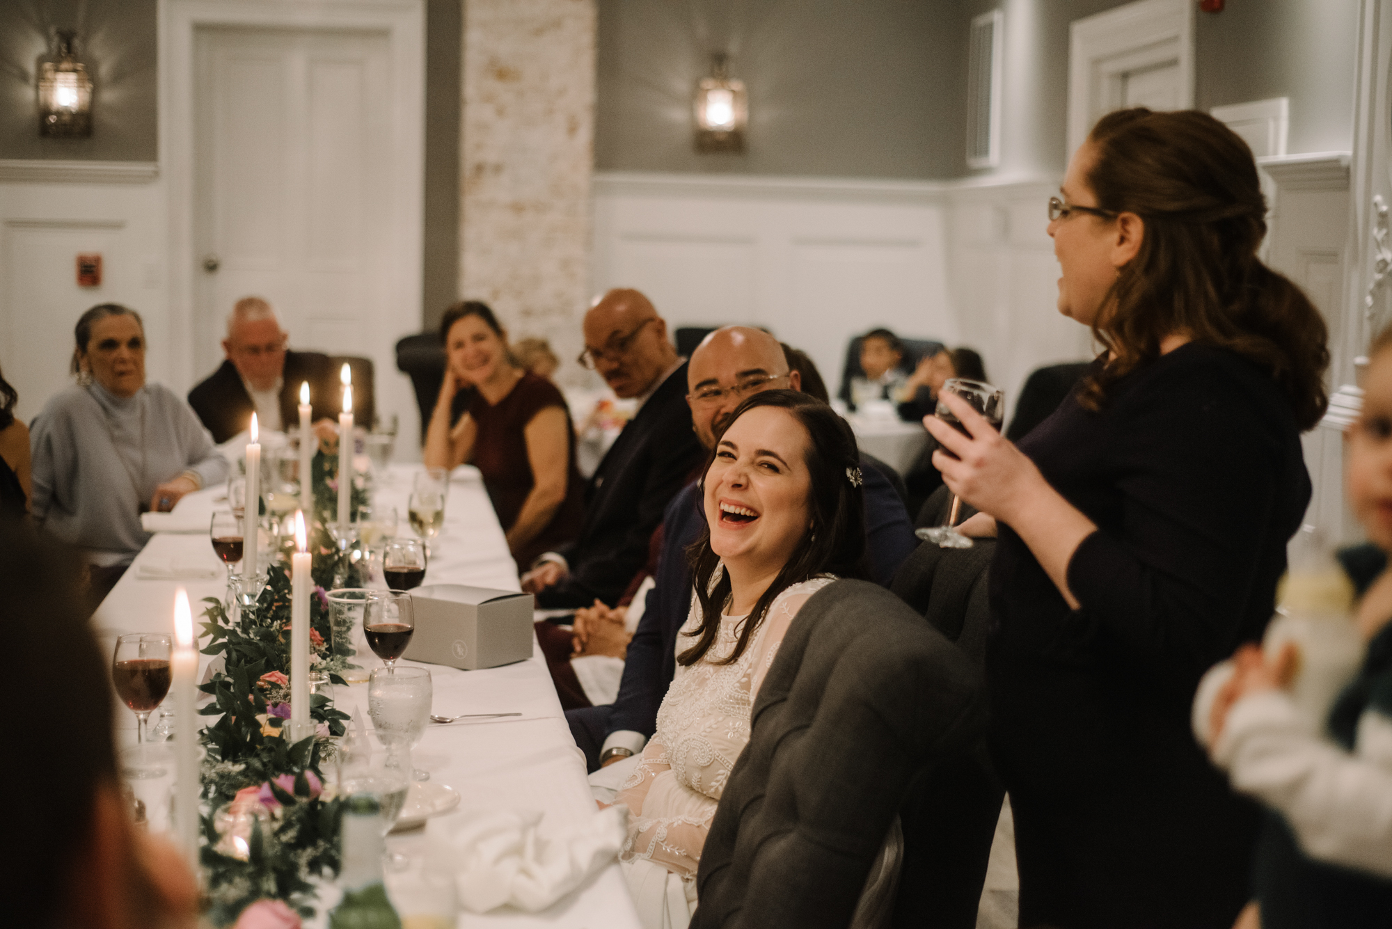
[[[721,616],[715,643],[700,661],[677,665],[657,712],[657,732],[615,801],[632,814],[619,859],[646,926],[681,929],[695,911],[700,850],[729,770],[749,743],[759,686],[798,611],[834,580],[816,577],[778,594],[734,662],[721,663],[734,652],[745,616]],[[678,654],[692,645],[688,633],[700,622],[692,597]]]

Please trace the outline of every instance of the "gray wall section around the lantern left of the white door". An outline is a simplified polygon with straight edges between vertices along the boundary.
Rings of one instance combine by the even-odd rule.
[[[156,0],[0,0],[0,159],[155,161]],[[38,61],[77,29],[92,75],[92,138],[39,136]]]

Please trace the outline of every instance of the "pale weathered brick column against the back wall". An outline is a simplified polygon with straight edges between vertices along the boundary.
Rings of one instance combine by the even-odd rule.
[[[590,274],[596,0],[464,4],[459,293],[578,377]]]

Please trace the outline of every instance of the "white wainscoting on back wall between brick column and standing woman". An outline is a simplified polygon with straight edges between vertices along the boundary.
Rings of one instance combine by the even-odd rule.
[[[767,327],[832,392],[876,325],[967,345],[1013,409],[1031,370],[1091,356],[1055,310],[1052,188],[599,174],[594,289],[638,288],[672,328]]]

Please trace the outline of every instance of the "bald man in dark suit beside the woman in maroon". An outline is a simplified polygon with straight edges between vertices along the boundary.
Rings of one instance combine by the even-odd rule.
[[[580,363],[639,406],[585,488],[579,538],[541,555],[522,576],[522,590],[543,609],[618,602],[647,560],[663,509],[703,458],[683,401],[686,364],[646,296],[617,289],[594,302],[585,314]]]

